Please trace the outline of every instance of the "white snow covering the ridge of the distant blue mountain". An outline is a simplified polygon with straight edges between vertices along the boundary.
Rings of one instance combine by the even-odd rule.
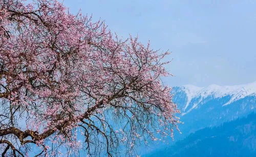
[[[207,97],[214,99],[229,96],[230,99],[222,104],[225,106],[247,96],[256,96],[256,81],[249,84],[233,86],[220,86],[212,84],[207,87],[184,85],[174,88],[174,93],[177,94],[181,92],[184,92],[186,95],[186,103],[181,108],[181,111],[184,115],[192,109],[197,108],[198,104],[204,101]],[[192,100],[194,101],[191,102]]]

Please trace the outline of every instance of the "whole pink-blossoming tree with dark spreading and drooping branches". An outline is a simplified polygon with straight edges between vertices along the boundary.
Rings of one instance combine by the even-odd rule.
[[[1,0],[0,37],[3,156],[131,153],[179,123],[160,80],[168,52],[54,0]]]

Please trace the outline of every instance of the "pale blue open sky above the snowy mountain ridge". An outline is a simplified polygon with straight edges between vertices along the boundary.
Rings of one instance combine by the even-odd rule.
[[[169,50],[164,83],[234,85],[256,81],[256,1],[65,0],[70,11],[105,20],[124,38],[138,34]]]

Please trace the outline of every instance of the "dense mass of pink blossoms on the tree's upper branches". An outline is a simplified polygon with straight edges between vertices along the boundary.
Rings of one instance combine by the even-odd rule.
[[[101,21],[73,15],[56,0],[0,6],[1,99],[25,108],[27,129],[66,132],[104,108],[134,104],[179,122],[171,88],[160,81],[169,75],[163,66],[168,62],[161,61],[168,52],[159,54],[137,37],[122,41]]]

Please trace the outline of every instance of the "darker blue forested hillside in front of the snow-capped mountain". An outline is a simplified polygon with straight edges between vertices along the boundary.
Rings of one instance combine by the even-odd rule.
[[[256,113],[198,130],[173,146],[144,156],[256,156]]]

